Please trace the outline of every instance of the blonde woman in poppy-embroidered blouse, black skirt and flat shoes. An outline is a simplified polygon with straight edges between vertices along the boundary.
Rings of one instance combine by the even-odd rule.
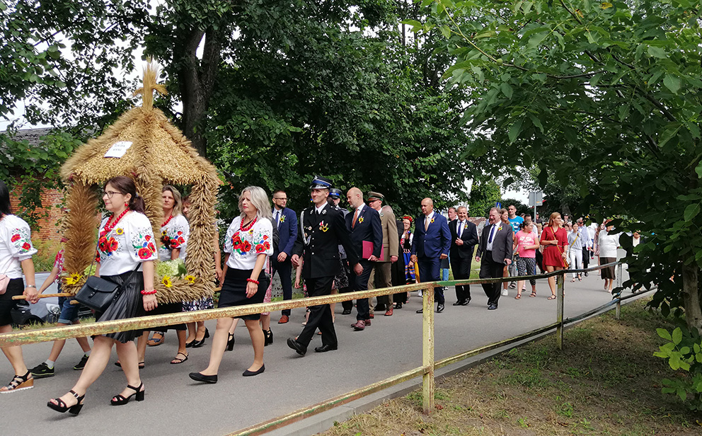
[[[268,196],[263,188],[249,186],[239,195],[241,215],[229,225],[224,239],[224,282],[219,294],[219,307],[241,306],[263,302],[270,277],[263,267],[267,256],[273,254],[273,226]],[[263,365],[263,331],[258,321],[260,314],[238,316],[243,318],[253,344],[253,363],[244,377],[265,371]],[[191,372],[190,378],[205,383],[217,383],[217,372],[229,336],[231,318],[217,320],[217,331],[212,339],[209,365],[202,372]]]

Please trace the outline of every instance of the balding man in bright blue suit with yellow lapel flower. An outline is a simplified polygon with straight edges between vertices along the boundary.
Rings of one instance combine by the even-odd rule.
[[[431,198],[422,200],[422,214],[415,221],[415,239],[412,241],[411,262],[419,264],[420,282],[435,282],[439,280],[441,261],[449,257],[451,248],[451,232],[449,224],[441,214],[434,212],[434,201]],[[437,313],[444,311],[444,289],[434,288],[434,299],[437,301]],[[421,314],[423,309],[417,311]]]

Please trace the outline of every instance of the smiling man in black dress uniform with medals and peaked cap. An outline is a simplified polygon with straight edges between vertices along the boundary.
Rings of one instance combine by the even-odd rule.
[[[331,293],[334,276],[340,270],[340,243],[346,250],[350,265],[354,265],[356,274],[362,272],[349,231],[344,223],[344,215],[340,210],[327,204],[329,188],[331,188],[330,180],[323,177],[314,178],[310,187],[313,205],[300,214],[300,231],[297,234],[291,258],[295,268],[300,263],[300,257],[304,259],[302,276],[310,297]],[[314,350],[316,352],[336,350],[338,341],[329,304],[311,306],[309,311],[309,319],[302,333],[297,339],[288,338],[287,345],[297,351],[297,354],[304,356],[314,332],[319,328],[322,333],[322,346]]]

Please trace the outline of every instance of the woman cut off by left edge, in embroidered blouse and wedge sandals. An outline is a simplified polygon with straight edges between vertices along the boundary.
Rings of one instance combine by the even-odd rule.
[[[34,278],[32,256],[37,250],[32,246],[29,225],[20,217],[11,214],[10,192],[0,180],[0,333],[12,331],[10,311],[22,300],[13,300],[16,295],[24,295],[26,301],[36,303],[39,293]],[[24,274],[27,284],[24,284]],[[3,347],[10,365],[15,370],[15,377],[7,386],[0,388],[0,394],[22,391],[34,387],[34,379],[22,357],[22,348],[18,345]]]

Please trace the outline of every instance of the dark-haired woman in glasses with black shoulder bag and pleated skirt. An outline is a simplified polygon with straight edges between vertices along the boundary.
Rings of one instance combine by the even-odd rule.
[[[158,306],[154,289],[156,245],[151,223],[144,215],[144,200],[137,197],[134,180],[117,176],[105,183],[103,202],[105,209],[112,213],[100,224],[95,275],[120,285],[122,293],[103,313],[96,313],[96,320],[141,316],[144,311],[154,310]],[[142,271],[138,268],[142,268]],[[144,384],[139,377],[137,348],[133,341],[137,333],[120,331],[96,336],[93,351],[78,382],[68,394],[52,399],[47,406],[58,412],[70,411],[78,415],[86,390],[105,370],[113,345],[117,345],[117,356],[127,377],[127,387],[110,403],[120,406],[128,403],[132,396],[142,401]]]

